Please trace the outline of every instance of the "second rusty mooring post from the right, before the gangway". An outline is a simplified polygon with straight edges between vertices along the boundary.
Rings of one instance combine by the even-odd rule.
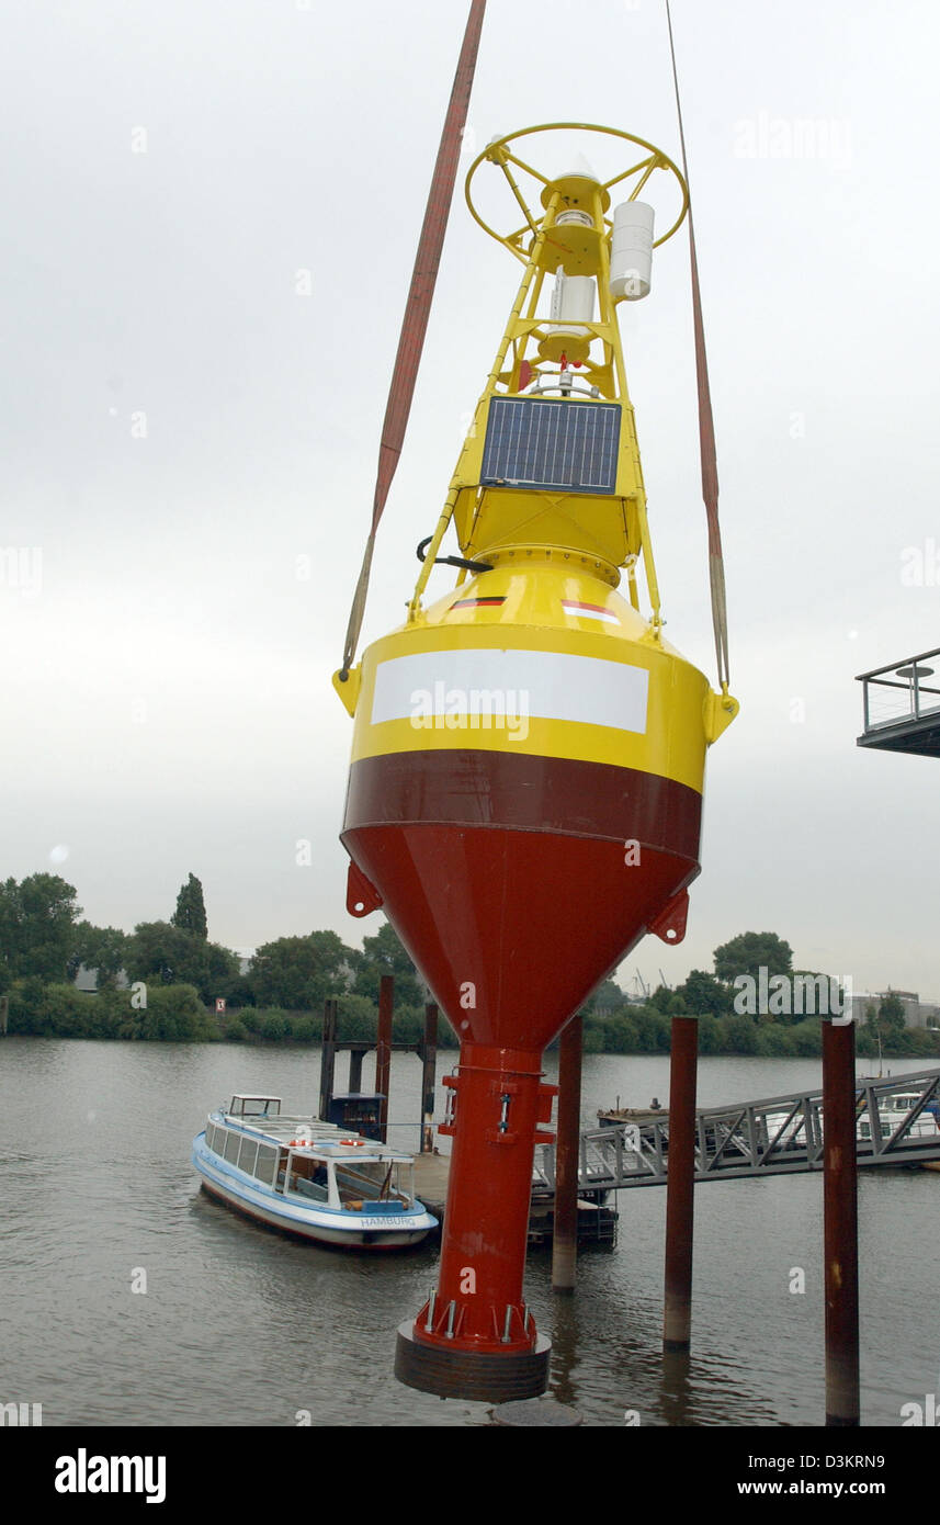
[[[696,1064],[698,1022],[695,1017],[673,1017],[669,1061],[663,1350],[689,1350],[692,1339]]]

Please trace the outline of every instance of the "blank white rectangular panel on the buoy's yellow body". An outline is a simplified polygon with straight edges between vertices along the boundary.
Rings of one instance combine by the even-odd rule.
[[[646,732],[649,673],[561,651],[416,651],[379,662],[372,724],[416,715],[526,715]]]

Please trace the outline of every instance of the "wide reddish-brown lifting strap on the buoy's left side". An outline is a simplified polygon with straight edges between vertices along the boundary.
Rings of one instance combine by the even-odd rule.
[[[428,316],[431,311],[431,297],[434,296],[434,282],[437,279],[437,267],[440,264],[440,250],[443,247],[443,235],[451,210],[451,200],[454,197],[454,181],[457,180],[457,163],[460,160],[460,140],[463,137],[463,128],[466,127],[466,113],[474,82],[474,69],[480,47],[484,9],[486,0],[471,0],[466,30],[463,34],[463,46],[460,49],[457,72],[454,75],[454,87],[451,90],[443,131],[440,134],[440,146],[437,149],[437,160],[434,163],[434,174],[431,177],[428,204],[425,207],[420,238],[417,241],[417,255],[414,256],[414,270],[411,271],[411,287],[405,303],[405,316],[398,340],[395,371],[392,372],[392,386],[388,389],[388,403],[385,406],[385,418],[382,422],[378,474],[375,482],[375,496],[372,500],[372,528],[369,531],[369,540],[366,541],[360,580],[353,593],[352,608],[349,612],[349,625],[346,628],[343,666],[340,668],[341,682],[346,682],[349,677],[349,669],[355,660],[356,647],[360,644],[363,615],[366,613],[366,595],[369,590],[369,573],[372,570],[372,552],[375,549],[375,534],[379,526],[379,518],[382,517],[382,509],[385,508],[385,499],[388,497],[388,488],[392,486],[392,477],[395,476],[395,468],[398,467],[405,438],[408,413],[411,412],[417,366],[420,363],[420,352],[424,349]]]

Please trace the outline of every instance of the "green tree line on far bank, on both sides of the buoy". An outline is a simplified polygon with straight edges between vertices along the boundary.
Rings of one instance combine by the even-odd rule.
[[[98,971],[96,994],[75,988],[81,965]],[[745,932],[715,950],[713,965],[713,971],[692,970],[675,990],[644,991],[641,1002],[605,981],[582,1011],[585,1051],[667,1054],[670,1019],[693,1016],[702,1054],[821,1052],[818,1017],[736,1010],[734,981],[742,974],[754,981],[762,968],[771,978],[811,974],[792,968],[789,942]],[[55,874],[0,883],[0,997],[9,1002],[11,1032],[303,1043],[320,1035],[323,1002],[335,997],[340,1037],[372,1039],[382,974],[395,976],[395,1039],[416,1042],[430,994],[388,923],[361,949],[335,932],[276,938],[256,949],[242,970],[236,953],[209,938],[195,874],[166,921],[139,923],[131,933],[85,921],[76,889]],[[222,1017],[215,1013],[218,997],[225,1002]],[[446,1020],[439,1042],[456,1043]],[[858,1051],[935,1055],[938,1045],[937,1034],[905,1028],[900,1000],[887,996],[859,1025]]]

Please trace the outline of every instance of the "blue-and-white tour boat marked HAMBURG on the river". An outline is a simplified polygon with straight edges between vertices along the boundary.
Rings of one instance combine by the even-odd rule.
[[[437,1228],[414,1196],[411,1154],[285,1115],[280,1096],[235,1095],[210,1112],[192,1162],[210,1196],[318,1244],[404,1249]]]

